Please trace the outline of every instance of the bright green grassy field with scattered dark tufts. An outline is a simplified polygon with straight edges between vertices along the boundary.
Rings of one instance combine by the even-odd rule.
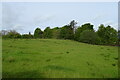
[[[117,78],[118,48],[71,40],[2,41],[3,78]]]

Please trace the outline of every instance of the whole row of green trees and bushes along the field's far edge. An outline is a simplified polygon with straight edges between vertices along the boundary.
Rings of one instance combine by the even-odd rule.
[[[117,45],[118,36],[117,30],[115,30],[111,26],[104,26],[101,24],[98,26],[98,30],[95,31],[93,26],[90,23],[85,23],[81,26],[76,27],[77,22],[72,20],[68,25],[64,25],[63,27],[55,27],[50,28],[46,27],[44,31],[40,28],[36,28],[34,30],[34,34],[20,34],[15,30],[2,30],[1,35],[2,38],[14,38],[14,39],[69,39],[75,40],[83,43],[96,44],[96,45]]]

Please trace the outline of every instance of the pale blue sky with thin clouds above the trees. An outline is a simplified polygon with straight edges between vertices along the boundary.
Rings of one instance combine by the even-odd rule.
[[[62,27],[75,20],[77,26],[100,24],[118,29],[117,2],[2,2],[0,27],[21,34],[33,33],[39,27]]]

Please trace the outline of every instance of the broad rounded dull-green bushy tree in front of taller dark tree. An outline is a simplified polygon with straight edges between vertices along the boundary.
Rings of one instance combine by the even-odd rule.
[[[89,44],[99,44],[99,37],[97,33],[91,30],[85,30],[80,34],[79,41]]]

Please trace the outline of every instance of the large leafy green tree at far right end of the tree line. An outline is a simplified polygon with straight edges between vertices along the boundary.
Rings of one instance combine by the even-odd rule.
[[[97,34],[101,39],[101,44],[116,44],[118,40],[117,31],[109,25],[107,27],[100,25]]]

